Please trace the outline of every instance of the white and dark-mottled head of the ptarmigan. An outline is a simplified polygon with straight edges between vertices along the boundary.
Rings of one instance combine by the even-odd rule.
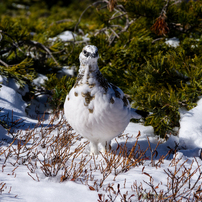
[[[79,55],[80,64],[84,66],[97,64],[98,58],[98,49],[93,45],[85,46]]]

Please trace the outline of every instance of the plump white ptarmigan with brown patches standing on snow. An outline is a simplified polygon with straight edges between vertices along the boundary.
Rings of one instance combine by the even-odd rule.
[[[124,131],[131,118],[147,115],[131,108],[123,91],[103,77],[98,58],[96,46],[83,48],[79,55],[77,80],[64,103],[69,124],[90,141],[90,154],[98,154],[98,143],[104,152],[111,139]]]

